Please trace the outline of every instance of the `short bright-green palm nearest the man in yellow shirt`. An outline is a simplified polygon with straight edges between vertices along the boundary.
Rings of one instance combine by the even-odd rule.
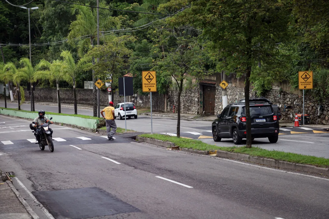
[[[72,84],[73,86],[73,95],[74,95],[74,114],[77,113],[77,93],[75,90],[76,79],[78,74],[91,67],[90,58],[84,56],[79,59],[77,63],[74,62],[73,56],[70,51],[63,51],[61,56],[64,59],[61,71],[65,74],[65,79]]]

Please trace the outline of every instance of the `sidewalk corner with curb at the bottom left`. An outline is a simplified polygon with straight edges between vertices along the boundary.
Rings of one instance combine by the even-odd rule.
[[[0,219],[39,219],[12,182],[0,181]]]

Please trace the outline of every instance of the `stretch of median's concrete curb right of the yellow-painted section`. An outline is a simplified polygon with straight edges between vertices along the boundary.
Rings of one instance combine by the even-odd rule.
[[[317,167],[317,166],[308,165],[308,164],[296,164],[296,163],[291,163],[291,162],[287,162],[287,161],[279,161],[279,160],[274,160],[274,159],[270,159],[270,158],[255,157],[255,156],[251,156],[251,155],[247,155],[247,154],[237,154],[237,153],[232,153],[232,152],[227,152],[227,151],[222,151],[222,150],[217,150],[216,156],[223,157],[223,158],[244,160],[244,161],[248,161],[248,162],[252,162],[252,163],[263,164],[263,165],[273,166],[273,167],[282,168],[282,169],[298,170],[298,171],[303,171],[303,172],[318,173],[318,174],[324,174],[326,176],[329,176],[328,168]]]

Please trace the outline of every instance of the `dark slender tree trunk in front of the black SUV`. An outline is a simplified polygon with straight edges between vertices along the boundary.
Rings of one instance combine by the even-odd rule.
[[[251,148],[251,118],[250,118],[250,107],[249,107],[249,88],[250,88],[250,74],[251,74],[251,66],[247,68],[246,74],[246,83],[244,86],[244,98],[245,98],[245,108],[246,108],[246,132],[247,132],[247,143],[246,147]]]

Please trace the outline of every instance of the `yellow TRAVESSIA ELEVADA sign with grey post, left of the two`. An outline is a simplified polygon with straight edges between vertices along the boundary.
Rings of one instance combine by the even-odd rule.
[[[152,92],[157,92],[157,76],[155,71],[142,71],[142,90],[150,92],[151,103],[151,134],[153,134],[152,124]]]

